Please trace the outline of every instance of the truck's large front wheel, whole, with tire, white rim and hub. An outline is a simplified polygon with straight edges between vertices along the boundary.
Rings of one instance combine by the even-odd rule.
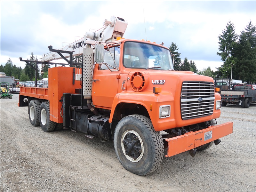
[[[164,143],[151,120],[130,115],[120,120],[114,133],[116,155],[123,167],[137,175],[147,175],[161,164]]]

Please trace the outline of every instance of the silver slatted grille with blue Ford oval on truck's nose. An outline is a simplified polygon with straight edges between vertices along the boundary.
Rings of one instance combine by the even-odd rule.
[[[212,82],[184,81],[180,93],[181,118],[186,120],[212,115],[214,99]]]

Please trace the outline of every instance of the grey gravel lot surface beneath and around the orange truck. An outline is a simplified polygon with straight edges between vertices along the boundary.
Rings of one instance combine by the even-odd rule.
[[[33,127],[19,94],[0,100],[0,191],[256,191],[256,105],[222,107],[218,124],[234,122],[218,146],[164,157],[147,176],[126,171],[112,141]],[[166,153],[166,151],[165,151]]]

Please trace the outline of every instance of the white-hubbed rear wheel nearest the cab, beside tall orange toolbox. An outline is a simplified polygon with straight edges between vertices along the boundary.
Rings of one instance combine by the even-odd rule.
[[[39,121],[44,132],[54,131],[56,123],[50,120],[50,104],[48,101],[42,102],[39,112]]]

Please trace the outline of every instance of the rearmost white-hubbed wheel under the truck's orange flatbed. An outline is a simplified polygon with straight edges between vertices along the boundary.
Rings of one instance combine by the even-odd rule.
[[[39,110],[41,102],[39,100],[31,100],[28,105],[28,117],[30,123],[36,127],[40,125]]]

